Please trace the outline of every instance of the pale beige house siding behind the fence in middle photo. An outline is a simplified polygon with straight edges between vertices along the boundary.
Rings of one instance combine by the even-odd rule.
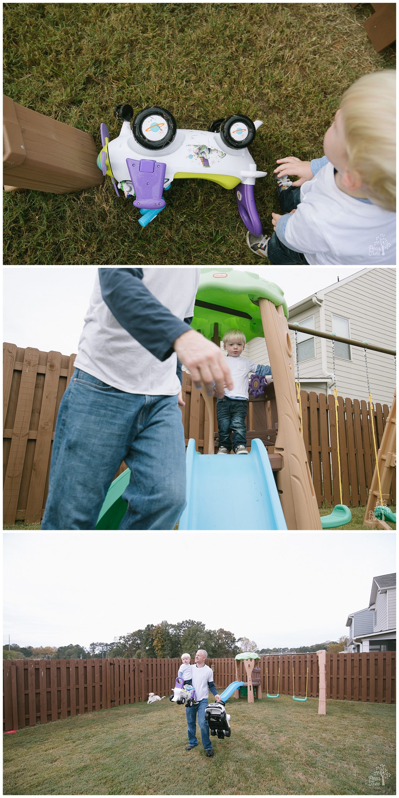
[[[354,279],[338,283],[333,289],[318,291],[318,298],[324,296],[326,332],[333,331],[333,314],[349,319],[350,338],[368,341],[377,346],[394,349],[396,346],[396,271],[379,267],[355,276]],[[314,316],[314,329],[321,329],[320,307],[308,306],[306,310],[290,313],[290,322],[300,324],[304,319]],[[295,377],[296,356],[294,331],[290,330],[294,352]],[[322,351],[325,352],[327,375],[333,373],[332,344],[323,338],[315,338],[316,357],[299,363],[301,387],[327,393],[326,374],[322,369]],[[270,365],[267,347],[263,338],[254,338],[246,346],[245,354],[256,362]],[[338,396],[350,399],[369,399],[365,373],[364,350],[350,346],[350,360],[335,358],[335,375]],[[367,368],[373,402],[391,405],[395,389],[395,368],[393,357],[367,350]],[[318,384],[306,385],[307,379],[320,380]],[[328,389],[332,393],[333,386]]]

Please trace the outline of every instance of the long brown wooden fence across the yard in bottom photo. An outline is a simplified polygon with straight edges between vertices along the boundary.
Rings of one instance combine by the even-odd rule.
[[[395,703],[396,652],[326,655],[327,698]],[[235,681],[233,658],[207,660],[221,692]],[[292,695],[291,655],[261,657],[261,686],[269,693]],[[180,659],[5,660],[3,730],[147,701],[148,693],[166,696],[175,686]],[[246,681],[243,663],[239,676]],[[306,694],[306,654],[294,655],[294,693]],[[279,681],[280,667],[280,681]],[[266,678],[268,674],[268,679]],[[318,658],[309,654],[308,697],[318,697]]]

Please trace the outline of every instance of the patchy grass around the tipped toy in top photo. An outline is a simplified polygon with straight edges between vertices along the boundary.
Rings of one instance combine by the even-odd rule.
[[[263,119],[251,153],[265,232],[278,211],[281,156],[322,156],[340,97],[358,77],[394,67],[362,26],[371,7],[349,3],[6,3],[3,91],[19,105],[111,138],[115,105],[172,111],[180,128],[244,113]],[[4,263],[260,263],[247,248],[235,194],[176,180],[144,230],[109,178],[67,195],[4,196]]]

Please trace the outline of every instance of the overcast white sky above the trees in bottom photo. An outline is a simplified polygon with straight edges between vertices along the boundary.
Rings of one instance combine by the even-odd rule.
[[[346,634],[373,577],[395,571],[389,532],[3,532],[3,642],[112,642],[186,618],[267,646]],[[200,566],[192,568],[196,552]]]

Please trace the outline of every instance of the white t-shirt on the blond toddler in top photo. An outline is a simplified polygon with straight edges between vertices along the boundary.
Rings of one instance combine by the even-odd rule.
[[[340,191],[330,163],[301,186],[284,235],[311,266],[396,264],[396,214]]]

